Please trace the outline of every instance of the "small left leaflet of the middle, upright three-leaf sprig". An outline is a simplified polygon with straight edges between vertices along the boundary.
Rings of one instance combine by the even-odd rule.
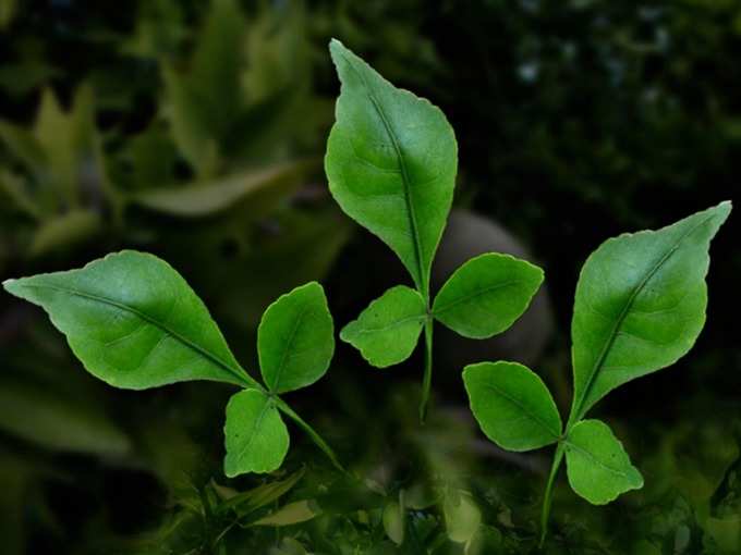
[[[425,301],[420,293],[398,285],[345,325],[340,338],[359,349],[373,366],[386,368],[409,358],[426,319]]]

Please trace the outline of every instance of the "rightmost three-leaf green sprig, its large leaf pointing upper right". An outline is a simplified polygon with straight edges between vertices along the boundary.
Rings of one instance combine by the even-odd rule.
[[[471,409],[493,442],[518,452],[557,444],[542,542],[564,456],[572,489],[595,505],[643,486],[609,427],[584,417],[614,388],[690,350],[705,323],[709,243],[730,211],[731,203],[721,202],[658,231],[608,239],[590,256],[574,300],[574,395],[566,428],[548,388],[524,366],[500,361],[464,369]]]

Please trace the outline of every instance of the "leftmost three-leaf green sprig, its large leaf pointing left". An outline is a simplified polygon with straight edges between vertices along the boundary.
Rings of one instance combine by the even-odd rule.
[[[187,380],[243,387],[227,406],[224,472],[277,469],[289,447],[280,412],[294,420],[338,468],[331,448],[278,395],[321,378],[335,351],[333,323],[316,282],[272,303],[260,321],[257,350],[265,386],[231,354],[206,306],[159,258],[124,250],[78,270],[3,282],[42,307],[87,371],[130,390]]]

